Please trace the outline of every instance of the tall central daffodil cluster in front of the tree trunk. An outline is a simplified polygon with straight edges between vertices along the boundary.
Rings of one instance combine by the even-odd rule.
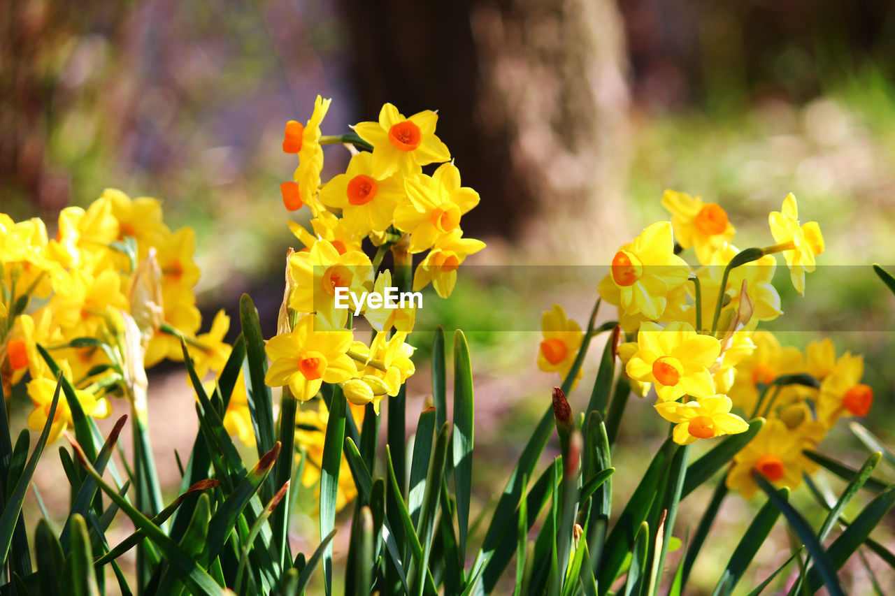
[[[337,385],[357,422],[366,404],[378,414],[385,396],[397,396],[413,375],[414,348],[406,340],[418,306],[413,299],[389,304],[358,297],[387,295],[394,281],[401,292],[418,292],[431,283],[445,298],[454,289],[457,268],[484,243],[463,237],[461,219],[479,195],[462,185],[435,132],[435,112],[405,117],[386,104],[378,122],[324,136],[320,124],[329,104],[318,96],[306,123],[286,123],[283,150],[298,156],[298,166],[293,180],[280,185],[283,204],[289,211],[307,206],[311,231],[289,222],[302,248],[287,257],[286,295],[277,336],[267,342],[271,363],[265,381],[288,387],[300,402],[314,400],[324,383]],[[324,144],[344,144],[352,155],[344,173],[322,183]],[[372,260],[364,241],[376,251]],[[389,250],[394,272],[380,270]],[[413,255],[420,253],[426,254],[414,270]],[[354,316],[361,314],[372,328],[369,343],[354,330]],[[296,444],[309,463],[303,481],[311,484],[320,477],[314,454],[322,453],[324,433],[309,428],[325,428],[328,414],[317,400],[298,416],[304,422]],[[340,505],[354,495],[354,485],[342,484]]]

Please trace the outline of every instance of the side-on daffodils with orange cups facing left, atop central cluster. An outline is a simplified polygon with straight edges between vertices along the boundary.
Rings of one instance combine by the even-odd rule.
[[[320,147],[320,123],[327,115],[331,99],[320,96],[314,100],[311,118],[303,124],[296,120],[286,123],[283,133],[283,151],[298,154],[293,183],[280,186],[286,209],[301,209],[308,205],[314,215],[320,210],[316,196],[320,187],[320,170],[323,169],[323,148]]]

